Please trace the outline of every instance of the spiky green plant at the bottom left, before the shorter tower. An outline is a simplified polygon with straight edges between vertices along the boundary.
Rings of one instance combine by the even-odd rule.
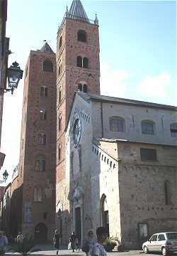
[[[38,252],[40,249],[34,249],[36,245],[35,240],[30,238],[24,238],[23,242],[16,242],[15,244],[11,245],[8,250],[11,252],[18,252],[23,256],[30,255],[31,252]]]

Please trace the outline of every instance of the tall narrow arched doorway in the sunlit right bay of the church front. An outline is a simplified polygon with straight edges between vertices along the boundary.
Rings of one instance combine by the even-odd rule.
[[[101,222],[103,227],[107,229],[108,236],[110,235],[109,231],[109,212],[108,212],[108,203],[106,200],[105,194],[101,196]]]

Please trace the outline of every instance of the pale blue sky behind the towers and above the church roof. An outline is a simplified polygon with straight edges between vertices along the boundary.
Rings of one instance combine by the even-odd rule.
[[[8,63],[25,68],[30,50],[47,40],[56,50],[58,24],[72,1],[8,0]],[[98,14],[101,94],[176,104],[176,1],[82,1]],[[1,151],[9,173],[18,164],[23,80],[4,97]],[[12,111],[13,110],[13,111]]]

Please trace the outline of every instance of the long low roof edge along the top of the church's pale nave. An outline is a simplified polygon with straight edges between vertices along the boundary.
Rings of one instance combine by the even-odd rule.
[[[177,110],[176,106],[171,106],[171,105],[163,105],[163,104],[158,104],[153,102],[144,102],[140,100],[129,100],[129,99],[120,98],[120,97],[95,95],[95,94],[85,93],[85,92],[76,92],[76,93],[86,101],[95,100],[100,102],[112,102],[112,103],[124,104],[124,105],[135,105],[139,107],[153,107],[153,108],[159,108],[163,110]]]

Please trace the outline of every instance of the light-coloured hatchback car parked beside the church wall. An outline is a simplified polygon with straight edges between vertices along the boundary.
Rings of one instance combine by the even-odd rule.
[[[167,255],[169,252],[177,252],[177,232],[156,233],[142,244],[144,253],[151,251],[161,252]]]

